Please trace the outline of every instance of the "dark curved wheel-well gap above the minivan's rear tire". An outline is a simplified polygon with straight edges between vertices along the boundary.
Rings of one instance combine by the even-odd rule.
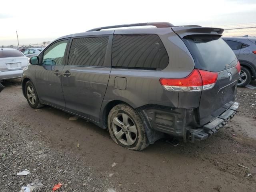
[[[108,128],[108,114],[110,112],[110,110],[118,105],[118,104],[126,104],[130,107],[132,107],[130,104],[128,104],[127,102],[121,101],[121,100],[112,100],[110,102],[108,102],[105,106],[104,109],[102,110],[102,115],[101,115],[101,119],[102,119],[102,128],[106,129]],[[133,108],[133,107],[132,107]]]

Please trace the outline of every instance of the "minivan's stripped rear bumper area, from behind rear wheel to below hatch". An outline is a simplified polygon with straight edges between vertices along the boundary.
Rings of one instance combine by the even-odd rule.
[[[196,121],[195,108],[179,109],[165,108],[163,106],[144,106],[137,110],[144,120],[148,142],[152,144],[159,138],[164,137],[164,134],[183,138],[184,142],[205,140],[218,132],[234,117],[239,103],[230,102],[229,106],[217,118],[203,126],[198,125]]]

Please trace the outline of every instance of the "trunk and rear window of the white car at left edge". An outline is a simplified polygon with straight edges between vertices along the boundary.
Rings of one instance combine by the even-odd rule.
[[[26,67],[28,58],[18,50],[0,50],[0,71],[20,70]]]

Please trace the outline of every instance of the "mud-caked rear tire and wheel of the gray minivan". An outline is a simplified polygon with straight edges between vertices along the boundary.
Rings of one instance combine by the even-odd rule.
[[[114,106],[108,114],[108,131],[112,140],[130,150],[140,151],[148,146],[144,123],[132,107]]]

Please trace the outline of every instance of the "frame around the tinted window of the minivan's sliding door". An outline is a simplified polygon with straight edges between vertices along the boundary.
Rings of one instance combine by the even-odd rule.
[[[106,48],[106,53],[105,53],[105,58],[104,58],[104,66],[84,66],[84,65],[69,65],[68,64],[68,58],[70,54],[70,48],[72,46],[73,39],[81,39],[81,38],[92,38],[92,37],[108,37],[108,44]],[[66,63],[65,66],[70,66],[70,67],[90,67],[90,68],[111,68],[112,65],[112,40],[113,40],[113,35],[86,35],[86,36],[76,36],[70,38],[70,44],[68,46],[67,50],[67,55],[66,55]]]

